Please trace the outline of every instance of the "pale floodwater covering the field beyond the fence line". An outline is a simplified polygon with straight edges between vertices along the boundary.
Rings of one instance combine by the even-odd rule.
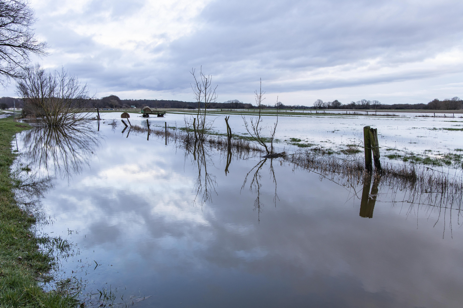
[[[306,110],[307,111],[307,110]],[[332,112],[333,110],[330,110]],[[314,111],[313,111],[314,112]],[[208,120],[213,121],[213,130],[226,135],[224,115],[207,115]],[[439,157],[447,153],[461,154],[463,143],[461,134],[463,132],[463,118],[461,114],[436,114],[438,117],[422,117],[432,113],[399,113],[398,116],[374,116],[374,115],[300,115],[292,116],[291,112],[281,112],[278,117],[278,125],[275,138],[277,151],[297,151],[301,149],[292,145],[294,141],[290,138],[301,139],[300,144],[324,147],[325,149],[344,149],[346,145],[363,146],[363,127],[370,126],[378,129],[378,139],[383,150],[397,149],[398,153],[403,151],[418,155],[432,155]],[[378,112],[378,114],[380,114]],[[392,114],[392,113],[388,113]],[[102,113],[103,119],[120,120],[121,113]],[[136,114],[131,114],[132,120],[136,121]],[[164,127],[165,122],[169,127],[185,127],[185,118],[191,119],[193,115],[181,113],[169,113],[165,117],[150,117],[154,126]],[[249,121],[250,115],[245,115]],[[263,133],[268,134],[270,127],[275,123],[275,116],[262,117]],[[190,120],[192,122],[192,120]],[[120,121],[119,121],[120,122]],[[246,136],[241,115],[232,114],[228,120],[232,133]],[[249,135],[248,135],[249,136]],[[302,148],[303,149],[303,148]],[[456,151],[457,150],[457,151]],[[384,154],[385,152],[383,152]],[[392,152],[388,152],[389,154]],[[383,159],[388,161],[386,157]]]

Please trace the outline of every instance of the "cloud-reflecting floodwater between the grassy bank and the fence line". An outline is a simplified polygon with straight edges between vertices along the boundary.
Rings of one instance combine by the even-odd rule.
[[[13,172],[43,188],[37,232],[73,243],[58,274],[88,306],[462,306],[458,209],[108,123],[13,141]]]

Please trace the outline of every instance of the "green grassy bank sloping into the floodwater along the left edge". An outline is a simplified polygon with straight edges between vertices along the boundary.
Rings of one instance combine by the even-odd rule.
[[[38,285],[47,276],[51,257],[38,250],[39,238],[30,228],[35,218],[14,199],[10,166],[15,155],[14,134],[30,127],[0,119],[0,307],[73,307],[76,301],[59,291],[44,292]]]

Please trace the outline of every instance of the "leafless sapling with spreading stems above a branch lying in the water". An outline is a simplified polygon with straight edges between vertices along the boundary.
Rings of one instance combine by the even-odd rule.
[[[254,92],[255,94],[255,99],[256,99],[256,104],[257,104],[257,109],[259,110],[257,114],[257,118],[250,118],[250,121],[248,122],[246,120],[246,117],[244,115],[241,115],[244,121],[244,127],[246,128],[246,131],[250,134],[252,137],[252,141],[257,142],[259,145],[262,145],[267,152],[267,154],[272,154],[274,151],[273,148],[273,141],[275,139],[275,133],[276,133],[276,126],[278,125],[278,111],[279,109],[276,110],[276,122],[273,123],[273,126],[271,127],[264,127],[262,125],[262,102],[265,99],[263,95],[265,94],[265,91],[262,91],[262,80],[260,81],[260,87],[259,87],[259,92],[257,90]],[[278,104],[278,97],[276,98],[276,102]],[[270,128],[270,134],[269,137],[264,137],[263,136],[263,129],[264,128]],[[270,143],[270,147],[267,145],[267,143]]]

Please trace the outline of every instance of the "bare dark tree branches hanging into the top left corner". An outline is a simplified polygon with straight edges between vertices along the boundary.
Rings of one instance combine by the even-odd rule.
[[[24,77],[29,55],[46,55],[46,42],[39,41],[32,25],[34,11],[25,0],[0,0],[0,84]]]

